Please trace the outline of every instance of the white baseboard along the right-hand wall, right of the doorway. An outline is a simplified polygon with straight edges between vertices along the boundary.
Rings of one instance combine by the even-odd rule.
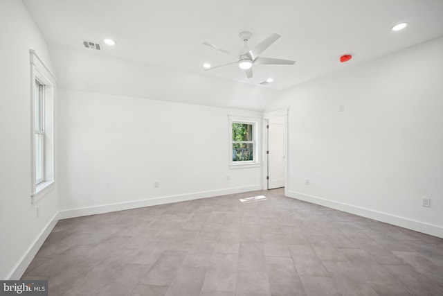
[[[334,200],[328,200],[326,198],[320,198],[318,196],[300,193],[296,191],[287,191],[286,195],[290,198],[296,198],[298,200],[304,200],[305,202],[312,202],[314,204],[320,204],[332,209],[338,209],[350,214],[356,214],[365,218],[371,218],[384,223],[404,227],[407,229],[415,230],[416,232],[422,232],[431,236],[437,236],[443,238],[443,227],[439,225],[433,225],[424,223],[422,221],[413,220],[410,218],[404,218],[395,216],[381,211],[374,211],[372,209],[365,209],[363,207],[356,207],[352,204],[345,204],[342,202],[336,202]]]

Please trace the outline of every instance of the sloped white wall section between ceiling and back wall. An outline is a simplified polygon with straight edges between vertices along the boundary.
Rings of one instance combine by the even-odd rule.
[[[50,44],[49,51],[61,89],[250,110],[263,110],[278,93],[260,85],[115,58],[106,50]]]

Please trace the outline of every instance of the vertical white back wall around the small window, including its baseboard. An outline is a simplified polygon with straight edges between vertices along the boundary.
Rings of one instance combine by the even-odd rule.
[[[66,89],[58,98],[62,217],[260,189],[260,168],[228,168],[228,114],[260,112]]]

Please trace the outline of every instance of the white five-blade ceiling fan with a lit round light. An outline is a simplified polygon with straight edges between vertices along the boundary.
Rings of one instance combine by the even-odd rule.
[[[267,37],[265,40],[257,44],[253,47],[253,49],[249,49],[247,42],[249,39],[251,39],[251,32],[242,32],[239,33],[240,39],[244,41],[244,48],[240,49],[239,54],[236,55],[235,53],[231,53],[230,51],[226,51],[226,49],[221,49],[218,46],[215,46],[212,43],[209,42],[203,42],[204,45],[210,46],[213,49],[217,49],[219,51],[222,51],[224,53],[228,53],[228,55],[233,55],[238,60],[235,62],[229,62],[228,64],[238,64],[238,67],[240,69],[243,69],[246,73],[246,76],[248,78],[252,78],[252,66],[253,64],[294,64],[295,61],[293,60],[281,60],[281,59],[275,59],[275,58],[262,58],[259,57],[260,53],[262,53],[265,49],[267,49],[271,44],[273,44],[275,41],[278,40],[278,38],[281,37],[280,34],[273,33],[271,36]],[[210,67],[209,69],[205,69],[206,71],[212,70],[219,67],[227,66],[228,64],[220,64],[215,67]]]

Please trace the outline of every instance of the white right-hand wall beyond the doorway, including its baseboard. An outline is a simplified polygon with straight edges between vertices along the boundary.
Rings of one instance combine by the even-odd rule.
[[[440,37],[281,92],[289,195],[443,237],[442,53]]]

